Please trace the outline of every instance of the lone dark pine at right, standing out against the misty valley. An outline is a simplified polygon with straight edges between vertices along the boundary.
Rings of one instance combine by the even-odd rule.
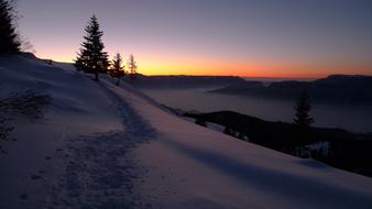
[[[306,91],[303,91],[295,105],[295,118],[294,123],[298,125],[299,131],[302,134],[306,134],[307,130],[309,129],[310,124],[314,122],[314,119],[309,116],[311,110],[311,105],[309,97]]]

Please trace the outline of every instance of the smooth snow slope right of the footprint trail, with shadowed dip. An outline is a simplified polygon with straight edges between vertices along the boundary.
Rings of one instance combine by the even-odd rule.
[[[125,92],[128,91],[128,92]],[[161,208],[371,208],[372,179],[242,142],[118,90],[157,131],[133,152]]]

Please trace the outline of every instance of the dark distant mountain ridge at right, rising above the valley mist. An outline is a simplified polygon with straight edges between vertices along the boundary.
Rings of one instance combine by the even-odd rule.
[[[242,81],[210,92],[294,100],[306,90],[314,101],[372,103],[372,76],[330,75],[314,81]]]

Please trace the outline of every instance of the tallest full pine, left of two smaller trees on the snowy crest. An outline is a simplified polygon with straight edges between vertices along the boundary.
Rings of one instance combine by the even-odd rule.
[[[98,73],[106,73],[110,63],[107,52],[103,52],[103,32],[100,30],[96,15],[90,18],[85,32],[87,34],[84,36],[85,41],[75,61],[75,66],[77,70],[95,74],[95,80],[98,81]]]

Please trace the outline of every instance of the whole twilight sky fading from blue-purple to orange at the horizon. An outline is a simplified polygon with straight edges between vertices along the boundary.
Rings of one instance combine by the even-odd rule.
[[[73,62],[96,14],[145,75],[372,75],[371,0],[17,0],[36,56]]]

